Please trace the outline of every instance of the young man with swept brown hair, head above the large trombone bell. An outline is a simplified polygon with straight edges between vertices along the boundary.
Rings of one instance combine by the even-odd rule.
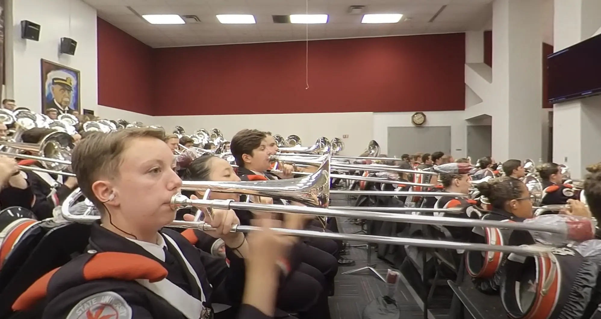
[[[242,180],[248,180],[251,175],[260,175],[267,178],[275,179],[276,176],[266,173],[270,168],[269,157],[273,155],[269,148],[267,148],[267,141],[265,133],[259,130],[242,130],[231,139],[231,153],[236,159],[237,175]],[[274,203],[284,203],[281,199],[273,199]],[[307,229],[312,229],[311,225]],[[321,229],[323,231],[323,228]],[[318,248],[328,254],[331,254],[335,259],[339,259],[338,255],[340,250],[337,243],[334,240],[326,238],[305,238],[304,241],[314,248]],[[307,247],[309,248],[309,246]],[[323,275],[326,276],[326,280],[334,288],[334,276],[338,273],[338,263],[328,256],[321,257],[319,252],[314,250],[308,250],[307,254],[302,257],[302,261],[319,269]],[[318,257],[320,256],[320,257]]]

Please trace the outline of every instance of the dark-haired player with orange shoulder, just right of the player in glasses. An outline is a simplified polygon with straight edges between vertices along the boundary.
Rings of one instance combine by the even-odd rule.
[[[568,199],[578,199],[571,185],[562,184],[563,175],[560,166],[555,163],[544,163],[536,168],[540,176],[543,190],[542,205],[566,204]]]

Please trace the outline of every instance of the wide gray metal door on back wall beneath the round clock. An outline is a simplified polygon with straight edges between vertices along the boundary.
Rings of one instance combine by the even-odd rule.
[[[388,127],[388,156],[402,154],[451,154],[451,127]]]

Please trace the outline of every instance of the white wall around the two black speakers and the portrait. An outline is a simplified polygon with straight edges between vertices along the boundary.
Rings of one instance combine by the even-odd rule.
[[[5,0],[6,95],[41,111],[41,59],[80,71],[80,105],[96,110],[98,72],[96,9],[81,0]],[[40,40],[21,38],[22,20],[38,23]],[[60,54],[61,37],[78,42],[74,56]]]

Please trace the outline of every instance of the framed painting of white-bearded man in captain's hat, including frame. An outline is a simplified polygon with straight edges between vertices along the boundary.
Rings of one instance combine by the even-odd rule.
[[[81,112],[79,71],[41,59],[41,111]]]

